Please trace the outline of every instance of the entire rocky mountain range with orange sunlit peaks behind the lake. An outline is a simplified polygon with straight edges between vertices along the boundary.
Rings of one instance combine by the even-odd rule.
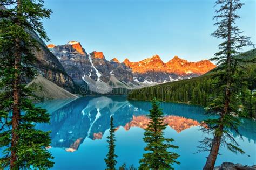
[[[87,53],[77,41],[47,46],[78,86],[86,84],[90,91],[110,93],[114,88],[134,89],[153,84],[190,79],[215,68],[208,60],[188,62],[174,56],[164,63],[158,55],[139,62],[117,58],[106,60],[103,52]]]

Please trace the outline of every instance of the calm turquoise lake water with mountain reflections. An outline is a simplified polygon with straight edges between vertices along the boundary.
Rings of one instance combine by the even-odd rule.
[[[104,169],[111,115],[117,128],[117,167],[123,163],[139,166],[144,153],[143,128],[149,121],[145,115],[151,109],[150,102],[128,101],[126,96],[96,96],[46,101],[42,107],[52,114],[51,124],[41,124],[38,128],[52,131],[49,151],[55,157],[53,169]],[[204,109],[165,102],[161,107],[169,124],[165,136],[174,138],[174,144],[179,146],[175,151],[180,155],[181,164],[174,168],[201,169],[207,153],[194,153],[202,139],[198,130],[200,121],[206,118]],[[242,121],[240,133],[244,140],[237,140],[247,155],[236,155],[221,148],[216,165],[224,161],[256,164],[256,122]]]

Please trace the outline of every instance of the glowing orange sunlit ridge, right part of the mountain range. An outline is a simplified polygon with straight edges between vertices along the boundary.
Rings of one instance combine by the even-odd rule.
[[[151,84],[197,77],[216,67],[209,60],[188,62],[178,56],[164,63],[158,55],[139,62],[125,59],[123,63],[132,69],[135,81]]]

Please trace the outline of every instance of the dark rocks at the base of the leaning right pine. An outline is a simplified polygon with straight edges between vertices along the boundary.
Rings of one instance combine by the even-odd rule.
[[[242,164],[233,164],[231,162],[223,162],[220,166],[214,167],[214,170],[255,170],[256,165],[248,166]]]

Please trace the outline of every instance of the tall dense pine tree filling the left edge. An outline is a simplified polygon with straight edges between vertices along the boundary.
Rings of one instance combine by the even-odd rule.
[[[6,6],[6,8],[5,8]],[[4,148],[1,168],[47,169],[53,159],[46,147],[50,132],[35,129],[36,123],[48,123],[49,114],[32,103],[32,90],[25,86],[36,75],[32,65],[37,33],[48,40],[41,19],[51,10],[43,1],[2,0],[0,2],[0,147]]]

